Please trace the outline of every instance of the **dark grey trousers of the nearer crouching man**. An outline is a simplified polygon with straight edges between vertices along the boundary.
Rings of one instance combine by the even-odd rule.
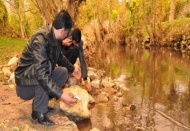
[[[59,88],[63,88],[69,76],[68,76],[68,71],[65,67],[56,67],[52,71],[51,77]],[[34,98],[32,103],[33,111],[37,111],[40,113],[47,113],[50,96],[41,86],[36,85],[36,86],[21,87],[17,85],[16,92],[17,95],[24,100],[31,100]]]

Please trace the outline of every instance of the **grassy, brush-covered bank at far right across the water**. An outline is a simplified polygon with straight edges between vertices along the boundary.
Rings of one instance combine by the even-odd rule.
[[[142,46],[171,47],[175,51],[190,56],[190,18],[163,22],[160,29],[156,29],[155,42],[145,35]]]

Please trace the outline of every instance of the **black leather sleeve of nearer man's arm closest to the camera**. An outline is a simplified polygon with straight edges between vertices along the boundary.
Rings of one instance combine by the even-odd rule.
[[[62,95],[61,88],[51,78],[51,62],[45,49],[46,43],[33,42],[34,74],[39,85],[52,97],[59,99]]]

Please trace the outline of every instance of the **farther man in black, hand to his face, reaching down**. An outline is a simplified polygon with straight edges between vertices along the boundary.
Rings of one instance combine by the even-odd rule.
[[[65,57],[69,60],[69,62],[73,65],[76,63],[77,58],[79,58],[82,77],[85,81],[85,88],[87,91],[91,91],[91,84],[87,81],[87,66],[83,53],[83,41],[81,39],[81,31],[79,28],[75,28],[71,32],[69,37],[62,41],[61,51],[63,55],[65,55]]]

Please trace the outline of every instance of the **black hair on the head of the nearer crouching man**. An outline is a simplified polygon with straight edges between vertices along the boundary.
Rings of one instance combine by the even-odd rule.
[[[73,26],[71,16],[65,10],[61,10],[56,16],[52,23],[55,29],[71,29]]]

